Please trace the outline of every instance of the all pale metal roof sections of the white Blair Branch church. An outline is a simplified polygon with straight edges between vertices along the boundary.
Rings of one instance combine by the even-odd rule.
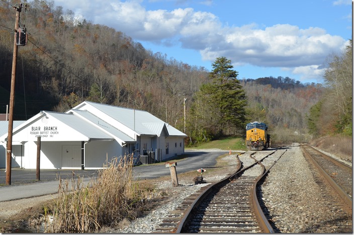
[[[166,130],[168,136],[187,136],[183,132],[168,125],[147,111],[95,103],[91,101],[84,101],[76,107],[84,109],[84,105],[92,105],[94,108],[106,113],[112,119],[140,135],[160,136],[163,130]],[[71,113],[53,111],[43,111],[43,113],[52,116],[63,124],[81,133],[88,139],[113,140],[114,138],[117,138],[124,142],[135,142],[135,140],[127,134],[110,125],[92,112],[79,109],[71,109],[69,111]],[[33,116],[33,118],[28,121],[14,121],[13,128],[15,129],[17,127],[19,130],[15,131],[20,131],[25,127],[24,125],[27,126],[29,123],[36,122],[38,118],[41,118],[41,113]],[[0,121],[0,136],[4,136],[7,132],[8,121]]]

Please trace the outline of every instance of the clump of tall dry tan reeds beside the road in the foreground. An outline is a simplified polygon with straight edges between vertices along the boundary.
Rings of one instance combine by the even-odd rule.
[[[45,232],[51,233],[98,232],[124,218],[135,218],[151,188],[139,188],[133,181],[132,166],[132,158],[124,156],[101,169],[90,186],[83,185],[80,178],[71,179],[71,186],[64,181],[54,205],[45,207],[44,216],[30,223],[44,224]]]

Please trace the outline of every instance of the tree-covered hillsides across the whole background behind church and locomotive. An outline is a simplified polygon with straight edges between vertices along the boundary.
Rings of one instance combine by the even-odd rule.
[[[12,2],[0,2],[3,107],[9,103],[11,84],[16,16]],[[23,11],[20,20],[29,37],[18,50],[14,120],[28,120],[40,110],[66,111],[91,100],[146,110],[181,131],[186,121],[186,144],[220,135],[242,136],[243,125],[253,121],[267,123],[272,140],[306,142],[332,132],[351,135],[351,47],[331,57],[323,85],[281,76],[240,79],[234,68],[230,84],[235,89],[214,92],[209,89],[214,71],[145,49],[124,32],[87,22],[54,2],[29,4],[31,10]],[[207,99],[198,96],[200,91],[212,91],[209,95],[219,105],[204,105]],[[187,98],[186,116],[182,94]],[[239,103],[231,105],[227,95],[239,96]]]

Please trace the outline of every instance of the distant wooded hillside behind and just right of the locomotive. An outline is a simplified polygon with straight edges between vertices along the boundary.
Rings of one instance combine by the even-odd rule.
[[[248,121],[267,123],[273,136],[284,141],[308,141],[307,113],[324,87],[283,77],[242,80],[248,97]]]

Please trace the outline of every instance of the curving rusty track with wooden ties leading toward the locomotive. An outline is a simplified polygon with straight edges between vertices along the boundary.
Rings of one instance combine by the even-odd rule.
[[[237,155],[239,168],[233,175],[191,195],[156,232],[274,232],[259,206],[256,185],[283,155],[275,152]]]

